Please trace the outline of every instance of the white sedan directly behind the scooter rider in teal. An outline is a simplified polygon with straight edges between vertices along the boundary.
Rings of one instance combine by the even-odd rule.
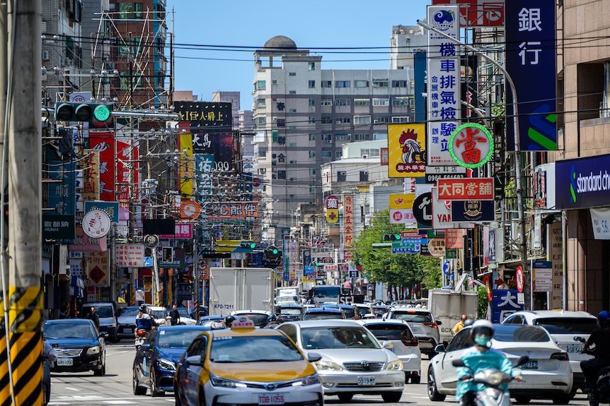
[[[520,366],[523,381],[512,381],[509,392],[517,402],[529,402],[533,398],[551,399],[556,405],[567,405],[572,390],[572,369],[568,353],[551,339],[546,330],[537,326],[495,324],[492,347],[502,350],[516,364],[517,359],[527,355],[529,361]],[[437,345],[438,354],[428,366],[428,397],[444,400],[454,395],[457,386],[456,367],[451,364],[460,359],[473,342],[470,327],[463,328],[449,342],[447,348]]]

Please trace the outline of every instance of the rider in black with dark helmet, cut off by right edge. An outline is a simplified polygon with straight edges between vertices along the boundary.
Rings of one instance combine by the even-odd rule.
[[[597,382],[597,371],[602,369],[604,366],[610,366],[610,312],[602,310],[597,315],[597,322],[599,328],[594,330],[589,335],[589,340],[585,342],[585,347],[582,348],[582,352],[594,355],[594,359],[585,359],[580,362],[580,368],[582,374],[585,375],[585,388],[584,392],[591,392],[595,383]]]

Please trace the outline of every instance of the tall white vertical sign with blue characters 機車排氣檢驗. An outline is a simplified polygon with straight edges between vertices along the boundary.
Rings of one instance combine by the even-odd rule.
[[[458,6],[428,6],[427,21],[445,34],[459,37]],[[427,31],[427,164],[455,165],[449,137],[461,119],[461,80],[458,47]]]

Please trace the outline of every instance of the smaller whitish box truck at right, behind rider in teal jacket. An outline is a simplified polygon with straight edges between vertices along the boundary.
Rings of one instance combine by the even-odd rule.
[[[462,314],[474,320],[478,311],[478,292],[447,289],[432,289],[428,291],[428,310],[435,320],[442,321],[439,326],[439,342],[451,340],[451,328],[460,320]]]

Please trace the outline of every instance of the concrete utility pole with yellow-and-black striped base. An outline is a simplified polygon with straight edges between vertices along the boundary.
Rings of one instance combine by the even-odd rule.
[[[0,71],[8,78],[8,138],[4,138],[2,171],[4,174],[8,156],[9,215],[8,291],[3,286],[1,313],[8,340],[5,335],[0,348],[8,348],[8,371],[0,369],[0,379],[5,382],[0,402],[42,405],[42,4],[40,0],[2,1],[4,4],[8,7],[8,57]],[[0,256],[4,255],[3,250]],[[2,272],[6,273],[4,266]]]

